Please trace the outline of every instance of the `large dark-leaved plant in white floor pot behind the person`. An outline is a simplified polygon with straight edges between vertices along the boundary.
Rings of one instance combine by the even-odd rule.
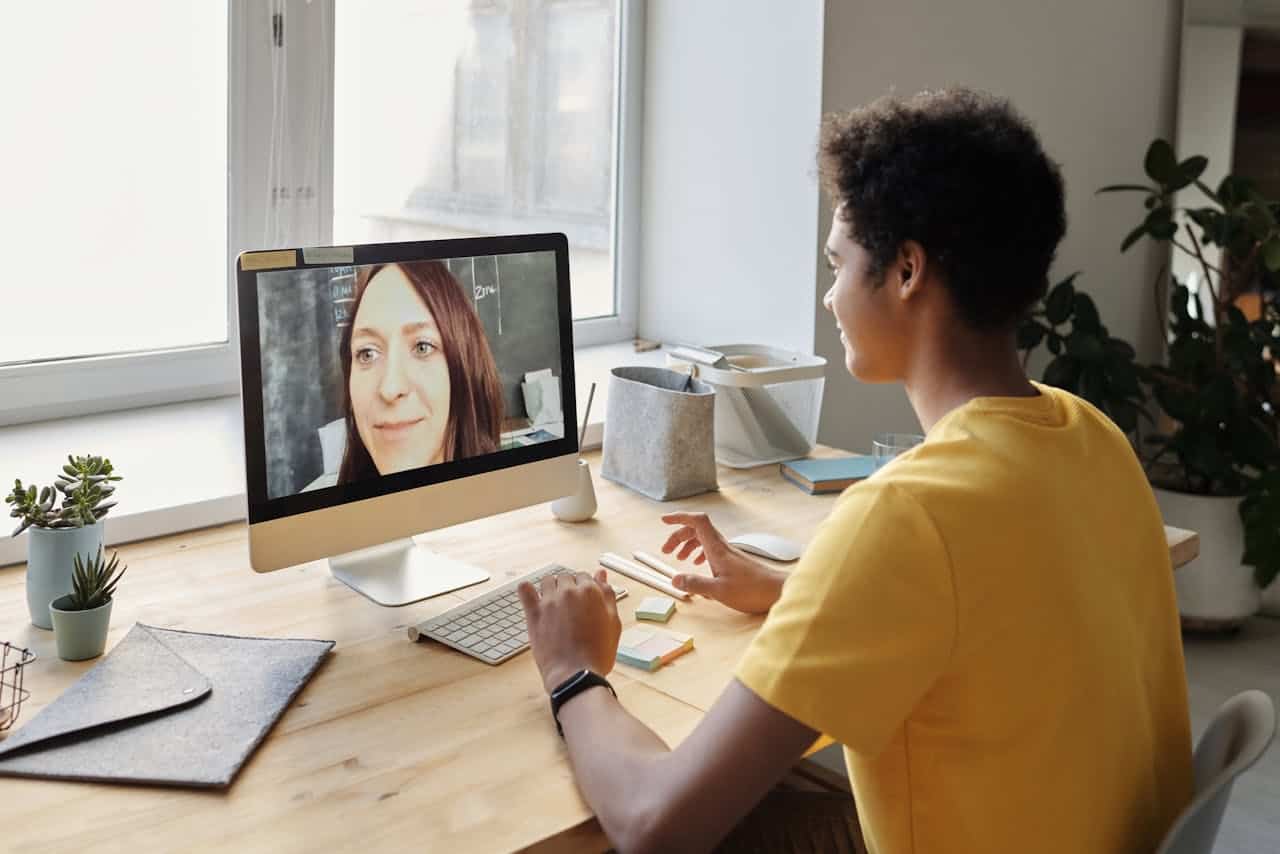
[[[1160,364],[1133,365],[1133,348],[1106,334],[1092,301],[1062,296],[1061,284],[1019,342],[1029,350],[1046,341],[1061,352],[1046,382],[1100,405],[1134,437],[1165,521],[1201,535],[1201,557],[1175,576],[1184,624],[1225,629],[1258,609],[1260,590],[1280,608],[1280,310],[1268,287],[1280,271],[1280,204],[1236,175],[1208,187],[1199,181],[1207,164],[1201,156],[1180,161],[1157,140],[1144,160],[1149,183],[1100,191],[1144,197],[1147,213],[1121,251],[1147,237],[1194,259],[1196,289],[1176,280],[1167,288],[1164,271],[1156,279],[1157,305],[1167,305]],[[1193,187],[1203,204],[1179,206],[1175,193]],[[1221,252],[1217,264],[1208,245]],[[1242,311],[1242,297],[1252,297],[1254,316]],[[1083,319],[1074,347],[1071,333],[1053,326],[1068,319],[1073,332]],[[1134,394],[1133,374],[1162,414],[1158,423],[1146,414],[1144,396]],[[1144,417],[1155,424],[1146,437]]]

